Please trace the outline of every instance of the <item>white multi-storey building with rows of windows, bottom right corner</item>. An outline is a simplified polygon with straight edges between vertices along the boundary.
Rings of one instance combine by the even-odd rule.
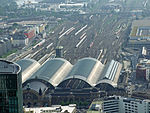
[[[99,106],[99,109],[95,106]],[[150,100],[112,96],[94,101],[87,113],[150,113]]]

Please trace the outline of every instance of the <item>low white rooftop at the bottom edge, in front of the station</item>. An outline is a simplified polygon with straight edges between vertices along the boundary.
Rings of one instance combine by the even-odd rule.
[[[76,104],[68,106],[54,105],[52,107],[24,108],[24,113],[76,113]]]

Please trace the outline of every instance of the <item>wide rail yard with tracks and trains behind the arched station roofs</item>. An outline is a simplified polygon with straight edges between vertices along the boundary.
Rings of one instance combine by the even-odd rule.
[[[119,59],[119,49],[127,38],[125,33],[129,21],[111,13],[78,16],[79,20],[65,22],[46,39],[40,39],[35,46],[8,59],[32,58],[44,62],[54,56],[57,46],[63,46],[63,57],[72,64],[84,57],[97,58],[102,63]]]

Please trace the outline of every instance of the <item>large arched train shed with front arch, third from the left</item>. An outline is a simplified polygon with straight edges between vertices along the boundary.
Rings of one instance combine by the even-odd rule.
[[[62,83],[58,85],[58,87],[60,86],[65,88],[70,86],[69,84],[70,83],[72,84],[73,81],[79,82],[79,80],[80,82],[84,81],[86,82],[86,84],[89,84],[86,86],[89,87],[95,86],[96,82],[100,77],[101,71],[103,70],[103,67],[104,65],[100,61],[94,58],[83,58],[73,66],[68,76],[63,80]],[[65,86],[67,82],[68,85]],[[80,87],[76,87],[76,88],[80,88]]]

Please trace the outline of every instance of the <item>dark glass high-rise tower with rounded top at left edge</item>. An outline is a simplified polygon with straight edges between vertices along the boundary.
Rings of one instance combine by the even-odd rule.
[[[22,108],[21,68],[0,60],[0,113],[22,113]]]

